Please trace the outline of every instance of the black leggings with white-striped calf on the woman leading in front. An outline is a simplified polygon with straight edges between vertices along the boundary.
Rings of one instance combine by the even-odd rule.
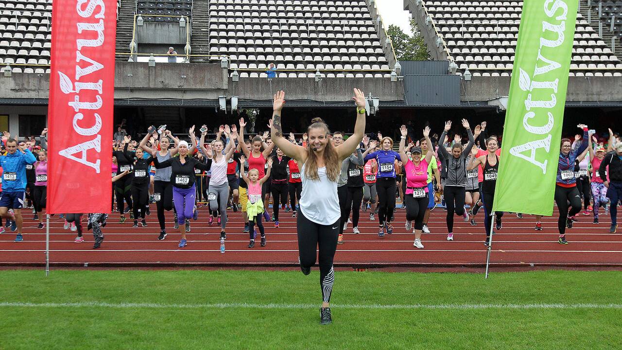
[[[333,258],[337,250],[337,236],[339,235],[339,221],[332,225],[320,225],[307,219],[301,212],[298,214],[298,253],[302,267],[315,265],[316,248],[320,264],[320,286],[322,286],[322,298],[325,303],[330,302],[333,291],[335,271],[333,270]]]

